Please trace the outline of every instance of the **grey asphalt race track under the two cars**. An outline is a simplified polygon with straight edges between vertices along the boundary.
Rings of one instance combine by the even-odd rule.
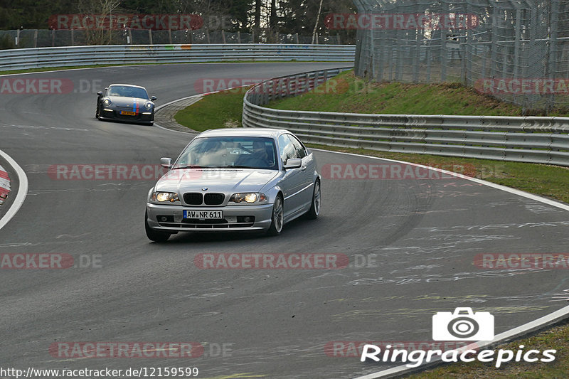
[[[147,240],[143,225],[154,179],[57,180],[53,168],[48,174],[52,165],[158,164],[191,138],[97,121],[95,92],[110,82],[144,85],[161,105],[196,94],[194,83],[203,78],[270,78],[342,66],[142,65],[9,77],[64,78],[76,92],[0,95],[0,149],[29,180],[25,203],[0,230],[0,253],[60,253],[88,267],[0,270],[2,365],[197,367],[198,378],[353,378],[395,363],[363,364],[353,352],[339,356],[341,349],[326,350],[332,341],[430,341],[432,315],[457,306],[490,311],[500,333],[565,306],[564,269],[484,269],[473,261],[484,253],[566,252],[567,211],[465,179],[324,178],[320,218],[294,221],[279,237],[179,234],[159,244]],[[100,87],[78,87],[93,80]],[[319,166],[390,164],[315,154]],[[198,254],[223,252],[336,253],[351,264],[194,264]],[[199,358],[50,352],[53,343],[112,341],[193,341],[204,350]]]

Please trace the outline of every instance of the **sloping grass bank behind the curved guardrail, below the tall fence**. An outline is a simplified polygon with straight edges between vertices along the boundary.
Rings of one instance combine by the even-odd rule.
[[[353,75],[353,71],[345,71],[303,95],[273,101],[267,106],[279,110],[374,114],[524,115],[521,107],[460,83],[366,82]],[[547,114],[565,117],[569,110],[551,110]],[[525,115],[545,116],[546,111],[536,110]]]

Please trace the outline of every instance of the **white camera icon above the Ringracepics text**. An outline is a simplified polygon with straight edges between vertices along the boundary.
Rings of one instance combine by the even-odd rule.
[[[434,341],[490,341],[494,339],[494,316],[490,312],[472,313],[472,308],[437,312],[432,316]]]

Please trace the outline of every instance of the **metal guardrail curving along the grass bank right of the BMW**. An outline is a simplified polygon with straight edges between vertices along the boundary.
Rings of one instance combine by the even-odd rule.
[[[357,114],[262,107],[312,90],[346,69],[283,76],[255,85],[243,99],[243,126],[288,129],[311,144],[569,166],[566,117]]]

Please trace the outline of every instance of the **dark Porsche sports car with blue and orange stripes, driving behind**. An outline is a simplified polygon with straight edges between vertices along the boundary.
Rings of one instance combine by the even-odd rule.
[[[97,119],[154,124],[154,100],[139,85],[113,84],[97,92]]]

